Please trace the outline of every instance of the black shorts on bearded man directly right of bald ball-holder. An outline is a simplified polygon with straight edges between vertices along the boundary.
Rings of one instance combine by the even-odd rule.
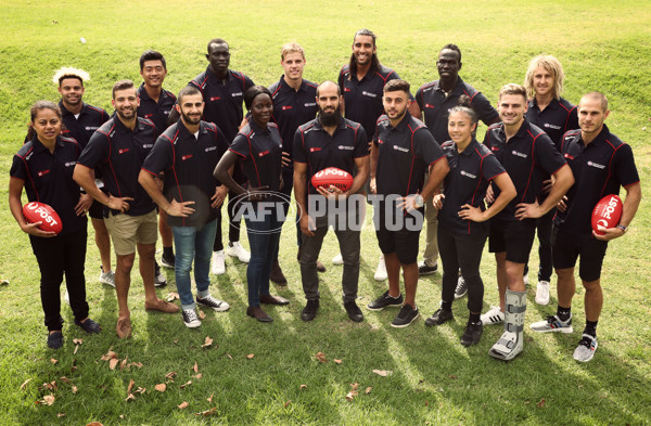
[[[421,208],[416,215],[408,214],[404,216],[405,224],[399,229],[395,229],[393,224],[397,223],[386,221],[386,215],[384,210],[384,203],[380,203],[375,210],[375,235],[378,236],[378,244],[380,250],[384,255],[395,253],[398,256],[398,261],[401,264],[411,264],[418,261],[418,243],[420,240],[420,232],[422,230],[422,222],[424,220],[424,209]],[[420,220],[418,220],[420,215]],[[409,225],[408,225],[409,224]]]

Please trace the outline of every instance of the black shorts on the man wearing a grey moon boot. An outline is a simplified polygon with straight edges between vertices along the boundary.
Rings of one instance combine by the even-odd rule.
[[[536,236],[536,220],[490,220],[488,251],[507,253],[507,260],[527,263]]]

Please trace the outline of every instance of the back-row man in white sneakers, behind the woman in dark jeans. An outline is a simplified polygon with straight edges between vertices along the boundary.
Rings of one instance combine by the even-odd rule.
[[[244,117],[242,111],[244,92],[254,83],[244,73],[228,68],[230,50],[225,40],[216,38],[208,41],[206,59],[209,62],[206,70],[196,76],[188,86],[194,86],[201,91],[205,102],[203,119],[217,125],[230,144],[238,134],[239,126]],[[178,118],[178,115],[176,117]],[[238,183],[243,183],[244,178],[237,171],[233,179]],[[229,193],[229,202],[235,196],[235,193]],[[226,254],[247,263],[251,254],[240,244],[240,223],[233,220],[232,209],[227,206],[227,210],[229,244]],[[217,217],[217,233],[213,246],[213,273],[222,274],[226,272],[225,259],[220,214]]]

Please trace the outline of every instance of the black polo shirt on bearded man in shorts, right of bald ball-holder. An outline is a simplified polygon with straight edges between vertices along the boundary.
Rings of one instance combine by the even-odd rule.
[[[429,167],[445,157],[430,130],[409,112],[396,127],[381,116],[373,143],[379,149],[375,183],[382,195],[422,191]]]

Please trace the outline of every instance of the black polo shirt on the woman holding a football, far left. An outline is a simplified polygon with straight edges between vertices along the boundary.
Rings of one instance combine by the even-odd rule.
[[[35,135],[14,155],[9,172],[12,178],[25,182],[29,202],[46,203],[56,211],[63,224],[59,235],[86,227],[86,215],[75,214],[80,191],[73,180],[73,172],[80,152],[74,139],[59,137],[54,152],[50,153]]]

